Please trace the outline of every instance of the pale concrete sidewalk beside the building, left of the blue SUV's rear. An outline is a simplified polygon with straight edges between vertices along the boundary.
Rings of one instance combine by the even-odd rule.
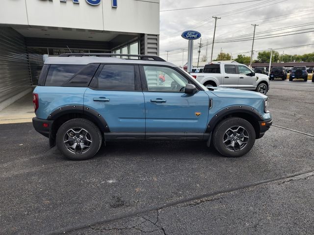
[[[32,93],[0,110],[0,124],[31,122],[35,117]]]

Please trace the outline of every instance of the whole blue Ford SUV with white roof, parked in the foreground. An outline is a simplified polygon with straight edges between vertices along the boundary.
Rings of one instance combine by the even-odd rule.
[[[72,160],[122,140],[205,141],[226,157],[240,157],[272,123],[267,99],[206,88],[157,56],[63,54],[45,61],[33,94],[33,126]]]

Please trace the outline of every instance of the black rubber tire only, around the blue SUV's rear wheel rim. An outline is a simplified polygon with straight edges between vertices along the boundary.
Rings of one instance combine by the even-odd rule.
[[[66,138],[67,131],[70,129],[86,130],[91,139],[90,146],[86,152],[73,153],[66,147],[64,138]],[[102,145],[102,134],[99,128],[91,121],[84,118],[74,118],[63,123],[57,131],[56,145],[59,151],[68,159],[71,160],[87,160],[92,158],[100,149]],[[75,141],[72,141],[73,143]],[[71,142],[71,144],[72,144]],[[79,144],[79,143],[78,143]],[[81,148],[82,149],[82,148]]]

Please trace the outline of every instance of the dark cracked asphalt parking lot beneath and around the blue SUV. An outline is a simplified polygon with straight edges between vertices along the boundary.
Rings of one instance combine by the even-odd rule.
[[[0,234],[314,234],[314,83],[271,81],[273,126],[241,158],[204,142],[111,142],[64,159],[0,125]]]

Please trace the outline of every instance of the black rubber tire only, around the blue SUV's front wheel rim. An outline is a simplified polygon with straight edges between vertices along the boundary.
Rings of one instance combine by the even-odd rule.
[[[229,128],[240,126],[245,128],[248,134],[247,144],[238,151],[231,151],[224,144],[224,136]],[[237,158],[247,154],[253,147],[256,139],[256,133],[250,122],[243,118],[226,118],[219,122],[212,133],[212,143],[215,149],[225,157]]]

